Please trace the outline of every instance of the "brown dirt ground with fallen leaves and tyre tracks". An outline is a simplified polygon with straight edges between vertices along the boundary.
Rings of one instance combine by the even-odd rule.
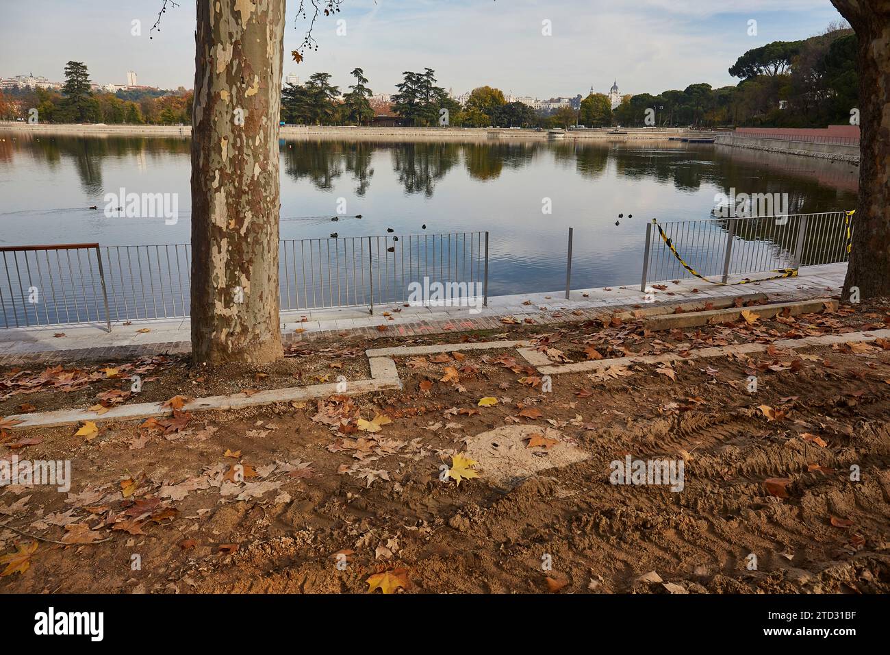
[[[888,309],[316,342],[259,371],[69,364],[94,380],[9,395],[43,373],[23,368],[0,372],[0,415],[90,406],[146,367],[124,402],[366,378],[368,347],[530,338],[559,363],[882,329]],[[399,593],[890,591],[890,340],[616,361],[552,381],[511,348],[396,362],[401,391],[99,423],[86,436],[0,430],[2,459],[71,463],[68,493],[0,487],[0,591],[367,593],[381,580]],[[682,461],[683,489],[612,484],[628,455]],[[467,456],[478,463],[462,467]]]

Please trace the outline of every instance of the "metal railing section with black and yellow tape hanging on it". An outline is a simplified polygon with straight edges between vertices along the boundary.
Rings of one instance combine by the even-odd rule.
[[[770,217],[714,218],[660,223],[677,255],[704,277],[763,274],[784,268],[847,261],[846,212]],[[851,223],[851,234],[853,225]],[[695,277],[661,238],[658,227],[646,225],[643,281]]]

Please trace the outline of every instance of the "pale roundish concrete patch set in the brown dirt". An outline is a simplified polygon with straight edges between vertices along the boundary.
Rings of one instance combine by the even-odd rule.
[[[549,450],[528,447],[532,435],[556,439]],[[559,430],[537,425],[503,425],[482,432],[466,443],[467,454],[479,464],[476,470],[490,484],[515,487],[538,471],[580,462],[590,455],[566,441]]]

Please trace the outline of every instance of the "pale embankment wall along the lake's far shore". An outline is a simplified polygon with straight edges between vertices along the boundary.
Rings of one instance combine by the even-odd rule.
[[[191,136],[191,126],[169,125],[102,125],[38,123],[0,121],[0,130],[12,130],[32,135],[71,135],[71,136]],[[622,134],[615,134],[613,128],[591,128],[570,130],[558,136],[560,140],[591,141],[666,141],[676,136],[713,135],[688,128],[620,128]],[[485,139],[548,139],[546,129],[510,129],[488,127],[346,127],[346,126],[284,126],[283,139],[337,139],[375,141],[425,141],[448,139],[454,141],[477,141]]]

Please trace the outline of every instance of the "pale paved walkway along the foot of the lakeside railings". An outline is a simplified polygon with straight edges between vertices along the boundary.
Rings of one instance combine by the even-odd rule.
[[[474,307],[403,307],[401,303],[374,307],[313,309],[281,315],[282,336],[286,344],[295,341],[359,334],[371,338],[414,337],[442,332],[472,332],[501,329],[505,316],[520,323],[563,323],[611,314],[622,309],[647,307],[663,302],[707,301],[745,293],[765,293],[770,300],[787,301],[837,295],[844,283],[845,264],[807,266],[796,278],[752,282],[724,287],[698,279],[671,281],[664,291],[655,290],[652,299],[638,285],[606,287],[551,293],[496,296],[480,311]],[[733,282],[731,279],[730,282]],[[381,331],[377,326],[385,325]],[[131,325],[63,325],[0,330],[0,365],[28,362],[69,361],[133,357],[157,353],[182,353],[190,350],[188,318],[134,321]],[[148,328],[149,332],[137,332]],[[63,337],[55,337],[57,333]]]

